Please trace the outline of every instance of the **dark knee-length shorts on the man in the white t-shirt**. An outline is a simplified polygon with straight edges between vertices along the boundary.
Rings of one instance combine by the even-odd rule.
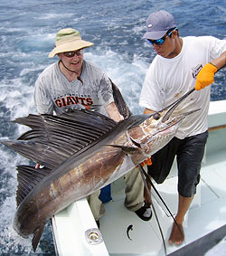
[[[165,147],[151,156],[152,165],[147,166],[148,175],[151,175],[157,184],[163,183],[170,173],[176,156],[178,192],[184,197],[191,197],[196,193],[196,185],[200,181],[207,137],[208,131],[184,139],[174,137]]]

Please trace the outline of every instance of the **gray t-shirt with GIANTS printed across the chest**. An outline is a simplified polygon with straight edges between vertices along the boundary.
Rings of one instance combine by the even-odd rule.
[[[114,101],[108,76],[90,62],[83,61],[80,80],[68,81],[59,62],[47,67],[35,82],[34,102],[40,114],[57,115],[66,109],[91,109],[107,115],[105,107]]]

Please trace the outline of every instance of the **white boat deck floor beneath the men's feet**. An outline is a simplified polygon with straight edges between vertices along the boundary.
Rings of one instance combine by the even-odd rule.
[[[184,247],[226,223],[226,150],[208,156],[202,165],[202,179],[184,221],[185,241],[181,246],[169,245],[167,239],[172,228],[172,217],[153,193],[153,204],[165,237],[166,253]],[[207,160],[206,160],[207,161]],[[177,177],[168,178],[163,185],[155,185],[173,214],[177,211]],[[114,189],[113,189],[114,190]],[[117,190],[117,189],[116,189]],[[124,206],[124,190],[112,194],[105,204],[106,214],[100,219],[100,232],[110,255],[165,255],[161,233],[155,215],[144,222],[136,213]],[[132,224],[127,237],[127,227]],[[226,230],[225,230],[226,235]],[[193,255],[195,255],[193,253]]]

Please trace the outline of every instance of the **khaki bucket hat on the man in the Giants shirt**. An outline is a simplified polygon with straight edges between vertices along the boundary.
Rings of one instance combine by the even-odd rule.
[[[77,30],[72,28],[61,29],[56,34],[55,48],[50,52],[49,58],[54,57],[57,53],[74,52],[92,45],[93,43],[82,40]]]

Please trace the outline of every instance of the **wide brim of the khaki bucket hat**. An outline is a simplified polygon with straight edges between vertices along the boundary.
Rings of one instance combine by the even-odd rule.
[[[88,48],[90,46],[92,46],[94,43],[90,43],[88,41],[84,41],[84,40],[76,40],[70,43],[63,43],[59,46],[56,46],[52,52],[50,52],[49,54],[49,58],[54,57],[57,53],[61,53],[61,52],[74,52],[74,51],[78,51],[82,48]]]

